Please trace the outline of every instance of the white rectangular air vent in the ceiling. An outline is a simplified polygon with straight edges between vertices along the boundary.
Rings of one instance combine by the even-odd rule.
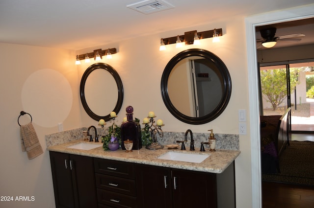
[[[127,7],[143,14],[152,14],[174,8],[173,5],[164,0],[142,0],[137,3],[129,4]]]

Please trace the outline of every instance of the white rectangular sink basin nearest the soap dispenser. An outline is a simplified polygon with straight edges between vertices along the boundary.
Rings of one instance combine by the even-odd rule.
[[[167,153],[157,157],[157,159],[201,163],[206,158],[208,158],[209,155],[210,154],[202,155],[202,154],[192,154],[192,153],[182,153],[182,152],[167,152]]]

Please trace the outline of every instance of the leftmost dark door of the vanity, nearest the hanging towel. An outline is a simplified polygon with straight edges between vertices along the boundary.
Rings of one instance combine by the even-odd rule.
[[[56,208],[75,208],[69,154],[50,152]]]

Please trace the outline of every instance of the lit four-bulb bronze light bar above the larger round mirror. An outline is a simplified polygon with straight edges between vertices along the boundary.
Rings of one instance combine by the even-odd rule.
[[[200,40],[201,39],[205,39],[205,38],[213,38],[213,42],[219,42],[219,36],[222,36],[222,28],[219,29],[212,29],[212,30],[208,30],[208,31],[203,31],[203,32],[197,32],[196,30],[194,31],[189,31],[189,32],[184,32],[184,35],[178,35],[175,37],[170,37],[170,38],[162,38],[161,42],[160,42],[160,47],[162,44],[164,45],[168,45],[168,44],[179,44],[178,46],[180,46],[180,42],[181,40],[183,40],[183,42],[181,42],[182,44],[185,45],[199,45],[200,44]],[[176,46],[176,47],[178,47]],[[159,50],[160,50],[159,47]]]

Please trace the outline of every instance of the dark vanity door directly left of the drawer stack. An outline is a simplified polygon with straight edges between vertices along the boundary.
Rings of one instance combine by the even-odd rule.
[[[70,155],[73,190],[79,208],[97,208],[94,160],[91,157]]]

